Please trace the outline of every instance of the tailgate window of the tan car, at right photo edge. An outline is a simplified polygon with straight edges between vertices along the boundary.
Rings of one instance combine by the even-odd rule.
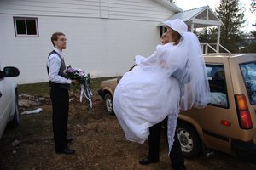
[[[256,62],[240,64],[241,75],[247,87],[251,105],[256,104]]]

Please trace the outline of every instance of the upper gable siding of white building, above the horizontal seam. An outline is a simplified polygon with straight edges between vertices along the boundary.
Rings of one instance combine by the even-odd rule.
[[[172,12],[154,0],[1,0],[0,14],[159,21]]]

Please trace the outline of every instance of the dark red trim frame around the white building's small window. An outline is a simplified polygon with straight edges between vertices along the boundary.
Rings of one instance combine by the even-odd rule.
[[[14,28],[15,28],[15,37],[39,37],[38,32],[38,18],[37,17],[20,17],[20,16],[14,16]],[[18,34],[17,33],[17,26],[16,26],[16,20],[35,20],[36,23],[36,34],[35,35],[28,35],[26,34]]]

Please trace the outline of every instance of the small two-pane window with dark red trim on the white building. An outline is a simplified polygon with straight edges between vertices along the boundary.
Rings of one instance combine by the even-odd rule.
[[[14,17],[15,37],[39,37],[38,19],[31,17]]]

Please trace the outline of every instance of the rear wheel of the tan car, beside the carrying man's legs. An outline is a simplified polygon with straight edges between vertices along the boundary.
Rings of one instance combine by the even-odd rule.
[[[181,144],[183,156],[186,158],[195,158],[201,151],[200,139],[195,129],[188,123],[177,122],[177,138]]]

